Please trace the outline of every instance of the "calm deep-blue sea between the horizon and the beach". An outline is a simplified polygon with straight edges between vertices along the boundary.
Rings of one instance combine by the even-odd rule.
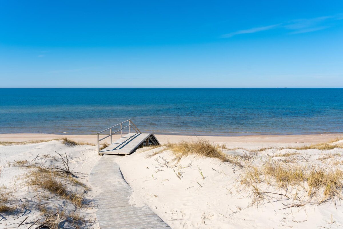
[[[0,89],[0,133],[343,133],[343,88]]]

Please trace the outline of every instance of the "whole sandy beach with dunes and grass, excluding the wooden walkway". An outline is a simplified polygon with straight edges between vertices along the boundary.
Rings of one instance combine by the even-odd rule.
[[[56,140],[62,138],[65,140]],[[119,135],[114,136],[114,140],[117,138]],[[292,173],[294,167],[304,174],[310,174],[315,167],[328,174],[342,169],[342,135],[156,135],[156,138],[162,146],[143,147],[127,156],[107,156],[114,157],[122,179],[133,190],[128,197],[130,205],[146,204],[172,229],[331,228],[343,222],[339,186],[335,188],[338,193],[326,196],[325,187],[318,184],[313,195],[309,194],[306,180],[295,183],[285,180],[283,185],[287,188],[282,188],[275,173],[269,171],[263,175],[267,165],[275,171],[277,165],[282,165]],[[29,142],[33,140],[36,142]],[[79,227],[100,228],[98,220],[102,218],[97,219],[96,205],[75,208],[75,203],[66,197],[53,198],[54,193],[49,192],[41,196],[39,188],[32,189],[23,183],[24,174],[30,174],[35,166],[63,168],[61,158],[68,157],[70,171],[78,174],[78,183],[67,184],[68,189],[83,193],[87,200],[96,199],[103,192],[89,182],[92,168],[102,158],[97,155],[96,135],[0,134],[0,142],[1,184],[16,190],[12,193],[15,200],[30,201],[32,212],[25,215],[27,222],[32,223],[43,214],[35,206],[46,204],[52,212],[64,209],[65,216],[59,220],[67,226],[75,222],[72,212],[76,212],[80,214],[76,218],[83,219]],[[215,154],[206,156],[195,149],[180,154],[177,150],[184,143],[194,143],[195,147],[205,143],[202,147],[210,147]],[[251,169],[258,171],[257,177],[247,176],[253,174]],[[342,182],[340,174],[336,174],[337,182]],[[78,186],[79,183],[82,185]],[[40,196],[39,201],[36,195]],[[14,200],[11,203],[21,206]],[[22,220],[22,217],[8,219],[2,224],[19,224]]]

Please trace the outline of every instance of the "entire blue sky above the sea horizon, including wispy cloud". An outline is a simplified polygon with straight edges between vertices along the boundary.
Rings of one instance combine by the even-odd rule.
[[[0,87],[343,87],[343,1],[1,1]]]

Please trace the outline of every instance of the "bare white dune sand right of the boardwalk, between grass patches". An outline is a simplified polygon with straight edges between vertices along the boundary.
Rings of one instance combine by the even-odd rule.
[[[243,169],[235,167],[234,172],[229,163],[192,156],[182,158],[175,164],[174,156],[168,151],[149,158],[156,150],[159,148],[145,152],[140,152],[140,149],[132,155],[118,158],[118,163],[125,179],[135,191],[132,202],[145,202],[171,228],[339,228],[343,225],[341,201],[337,201],[336,206],[330,202],[281,209],[294,203],[292,195],[264,185],[264,191],[287,194],[291,199],[282,201],[284,196],[269,194],[273,197],[271,200],[251,205],[252,191],[242,190],[238,181],[240,174],[244,173]],[[280,152],[289,151],[296,150],[283,149]],[[228,154],[241,152],[244,150],[227,151]],[[343,155],[342,149],[325,152],[309,149],[298,152],[315,163],[322,154]],[[261,155],[261,158],[266,158],[265,154]]]

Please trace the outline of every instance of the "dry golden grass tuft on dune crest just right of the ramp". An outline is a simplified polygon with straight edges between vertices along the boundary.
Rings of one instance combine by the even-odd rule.
[[[212,145],[206,140],[197,140],[194,142],[181,141],[178,143],[168,143],[166,149],[173,151],[177,160],[181,160],[182,157],[188,155],[198,155],[203,157],[217,158],[223,162],[229,162],[239,167],[243,167],[242,164],[235,157],[229,157],[224,154],[220,148]]]

